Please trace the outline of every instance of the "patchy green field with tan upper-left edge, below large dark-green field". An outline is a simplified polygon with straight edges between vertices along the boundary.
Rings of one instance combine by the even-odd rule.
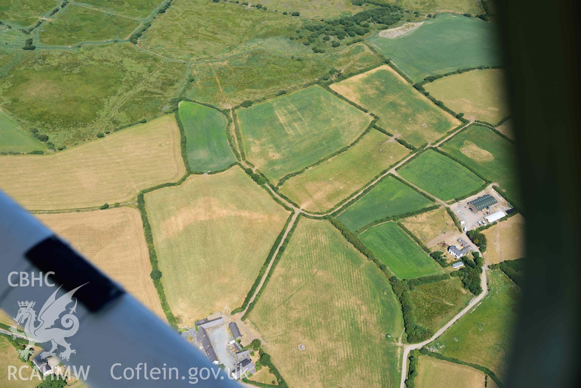
[[[378,125],[414,146],[433,142],[460,121],[439,109],[389,66],[347,78],[331,88],[379,116]]]

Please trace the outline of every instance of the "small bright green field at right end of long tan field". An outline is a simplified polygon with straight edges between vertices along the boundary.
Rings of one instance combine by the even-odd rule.
[[[224,114],[188,101],[180,103],[178,114],[184,126],[186,155],[192,171],[222,170],[236,161],[228,144],[228,120]]]

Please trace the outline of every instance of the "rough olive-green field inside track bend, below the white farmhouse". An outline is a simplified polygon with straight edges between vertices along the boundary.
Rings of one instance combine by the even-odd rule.
[[[458,278],[416,286],[410,291],[415,323],[435,333],[468,306],[472,294]]]

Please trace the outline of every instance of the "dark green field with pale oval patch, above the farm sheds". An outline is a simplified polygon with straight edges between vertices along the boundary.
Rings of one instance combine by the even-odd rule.
[[[441,147],[486,179],[500,183],[500,188],[514,200],[514,205],[522,205],[517,149],[514,143],[486,127],[472,125]]]

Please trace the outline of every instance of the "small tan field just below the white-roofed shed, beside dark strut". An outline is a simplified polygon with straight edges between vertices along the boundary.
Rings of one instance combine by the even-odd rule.
[[[521,214],[498,222],[482,233],[488,240],[483,254],[486,264],[525,257],[525,218]]]

